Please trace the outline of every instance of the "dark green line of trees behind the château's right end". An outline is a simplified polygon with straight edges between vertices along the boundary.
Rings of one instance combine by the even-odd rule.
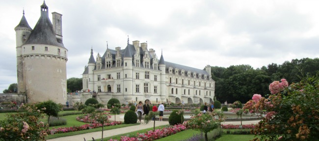
[[[254,69],[250,65],[232,65],[212,67],[215,81],[215,96],[220,102],[241,103],[249,101],[254,94],[270,94],[269,84],[286,79],[289,84],[297,83],[307,75],[319,74],[319,58],[302,58],[285,61],[282,64],[271,63]]]

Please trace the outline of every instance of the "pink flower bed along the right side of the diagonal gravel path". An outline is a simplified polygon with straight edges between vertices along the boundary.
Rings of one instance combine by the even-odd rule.
[[[164,138],[164,137],[176,134],[184,130],[186,130],[186,126],[182,124],[178,124],[172,127],[157,129],[154,132],[153,130],[151,130],[146,133],[137,133],[136,137],[122,136],[120,141],[154,141],[160,138]],[[108,141],[118,141],[118,140],[110,139]]]

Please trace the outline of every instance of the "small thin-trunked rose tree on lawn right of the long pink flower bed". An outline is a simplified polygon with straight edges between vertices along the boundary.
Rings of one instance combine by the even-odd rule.
[[[215,118],[214,116],[218,116],[218,118]],[[194,111],[192,118],[186,122],[186,127],[201,131],[205,134],[205,141],[208,141],[207,133],[213,131],[214,129],[220,128],[220,123],[223,121],[224,116],[220,111],[207,113]]]

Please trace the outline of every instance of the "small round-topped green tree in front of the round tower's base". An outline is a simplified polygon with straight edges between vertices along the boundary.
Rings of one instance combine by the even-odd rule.
[[[38,103],[36,106],[38,107],[40,111],[48,115],[48,124],[50,121],[50,116],[57,117],[58,113],[61,111],[61,107],[58,106],[52,100]],[[48,130],[49,130],[49,126],[48,126]]]

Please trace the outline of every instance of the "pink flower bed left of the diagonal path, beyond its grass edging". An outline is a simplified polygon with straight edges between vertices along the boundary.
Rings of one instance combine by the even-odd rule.
[[[104,123],[104,126],[112,126],[112,125],[119,125],[122,124],[121,121],[114,121],[110,123]],[[81,130],[87,130],[87,129],[94,129],[94,128],[99,128],[102,127],[101,123],[92,123],[92,124],[84,124],[82,126],[73,126],[73,127],[61,127],[55,129],[49,130],[47,133],[50,133],[51,135],[53,134],[59,134],[59,133],[68,133],[68,132],[75,132],[75,131],[81,131]]]

